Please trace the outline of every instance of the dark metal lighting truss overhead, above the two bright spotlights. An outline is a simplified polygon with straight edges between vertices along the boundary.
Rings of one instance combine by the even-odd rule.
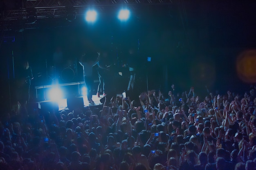
[[[2,31],[38,28],[38,23],[28,22],[29,15],[35,15],[36,20],[44,18],[64,18],[68,13],[84,15],[88,7],[106,11],[106,7],[141,7],[141,5],[170,5],[173,0],[27,0],[23,7],[17,10],[4,10],[0,15]],[[106,11],[107,12],[107,11]],[[22,27],[22,29],[19,29]]]

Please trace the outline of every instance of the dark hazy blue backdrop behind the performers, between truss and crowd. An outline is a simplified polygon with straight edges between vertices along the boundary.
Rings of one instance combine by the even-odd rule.
[[[15,78],[12,57],[14,73],[20,61],[27,58],[35,76],[32,86],[41,86],[50,83],[46,70],[52,73],[49,69],[54,66],[57,49],[63,53],[60,71],[69,66],[74,69],[75,61],[88,51],[108,53],[117,66],[116,72],[124,72],[123,77],[115,76],[117,83],[124,86],[118,89],[121,92],[129,79],[128,68],[121,65],[126,62],[129,47],[134,45],[140,54],[139,91],[146,90],[148,75],[149,90],[168,91],[175,84],[187,91],[194,86],[199,94],[205,94],[206,85],[210,91],[243,92],[249,84],[237,76],[236,57],[244,50],[255,49],[255,7],[256,2],[249,0],[140,5],[130,7],[131,16],[126,22],[117,19],[118,7],[105,7],[98,11],[94,24],[88,24],[82,16],[76,16],[72,22],[45,18],[36,21],[37,29],[1,31],[1,99],[11,98],[9,84],[12,87]],[[147,62],[147,57],[152,58],[151,62]],[[83,80],[79,64],[77,69],[72,82]]]

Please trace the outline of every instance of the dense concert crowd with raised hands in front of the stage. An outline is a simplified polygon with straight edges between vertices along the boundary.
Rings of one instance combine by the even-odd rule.
[[[0,170],[255,170],[256,89],[1,115]],[[28,111],[29,110],[29,111]]]

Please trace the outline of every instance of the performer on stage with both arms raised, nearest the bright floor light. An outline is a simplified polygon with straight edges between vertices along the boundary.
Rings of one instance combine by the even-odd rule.
[[[92,101],[92,86],[93,86],[92,67],[99,62],[99,59],[100,59],[100,53],[98,53],[97,58],[94,57],[94,54],[92,55],[84,54],[79,60],[79,63],[81,64],[81,66],[83,66],[83,78],[84,78],[84,83],[87,89],[88,102],[90,104],[94,104],[94,102]]]

